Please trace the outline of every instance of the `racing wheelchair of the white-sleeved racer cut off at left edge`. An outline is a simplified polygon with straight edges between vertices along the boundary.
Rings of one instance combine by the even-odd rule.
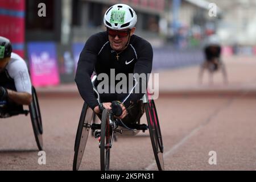
[[[32,86],[32,102],[28,106],[28,110],[23,109],[23,105],[8,106],[7,102],[3,102],[0,105],[0,118],[9,118],[15,115],[28,115],[30,114],[32,127],[34,130],[36,144],[39,151],[43,150],[43,125],[42,117],[40,113],[40,107],[38,102],[38,96],[34,86]]]

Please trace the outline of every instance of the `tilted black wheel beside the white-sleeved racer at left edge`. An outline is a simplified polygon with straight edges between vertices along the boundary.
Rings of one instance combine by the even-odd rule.
[[[36,95],[36,90],[32,86],[32,103],[28,106],[30,110],[30,118],[32,122],[32,127],[34,130],[36,144],[40,151],[43,150],[43,125],[40,113],[40,107],[38,102],[38,97]]]

